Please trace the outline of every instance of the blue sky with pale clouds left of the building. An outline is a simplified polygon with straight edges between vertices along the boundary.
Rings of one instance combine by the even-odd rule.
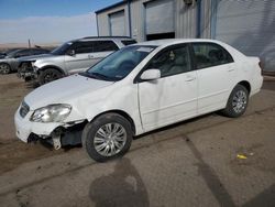
[[[95,11],[120,0],[0,0],[0,44],[97,35]]]

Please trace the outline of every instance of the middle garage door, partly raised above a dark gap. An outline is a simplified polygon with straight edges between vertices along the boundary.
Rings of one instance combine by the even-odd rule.
[[[174,0],[155,0],[145,3],[145,32],[175,35]]]

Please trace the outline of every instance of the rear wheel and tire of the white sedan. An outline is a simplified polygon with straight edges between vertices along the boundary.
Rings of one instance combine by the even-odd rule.
[[[248,89],[242,85],[237,85],[230,94],[226,109],[221,113],[231,118],[241,117],[245,112],[248,103]]]

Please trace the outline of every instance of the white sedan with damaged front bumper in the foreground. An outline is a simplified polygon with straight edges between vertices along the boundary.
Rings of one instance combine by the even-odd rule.
[[[212,40],[127,46],[29,94],[15,113],[16,135],[55,149],[81,142],[90,157],[107,161],[157,128],[217,110],[240,117],[262,87],[260,66],[257,57]]]

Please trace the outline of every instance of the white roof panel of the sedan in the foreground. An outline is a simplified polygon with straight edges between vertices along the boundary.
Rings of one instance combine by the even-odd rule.
[[[190,43],[190,42],[220,43],[219,41],[215,41],[215,40],[210,40],[210,39],[164,39],[164,40],[136,43],[135,45],[168,46],[168,45],[173,45],[173,44]]]

